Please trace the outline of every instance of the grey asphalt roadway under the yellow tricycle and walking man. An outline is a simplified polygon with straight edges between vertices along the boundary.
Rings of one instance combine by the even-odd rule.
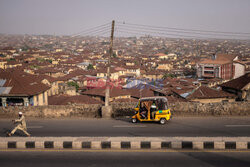
[[[238,137],[250,136],[250,117],[176,117],[166,125],[155,122],[132,124],[128,119],[27,120],[32,136],[129,136],[129,137]],[[0,136],[14,127],[0,119]],[[22,136],[17,133],[15,136]]]

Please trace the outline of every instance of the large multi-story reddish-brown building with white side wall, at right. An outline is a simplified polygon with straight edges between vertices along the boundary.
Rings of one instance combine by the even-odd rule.
[[[234,79],[245,74],[245,65],[238,61],[238,56],[227,54],[212,55],[196,64],[199,78]]]

